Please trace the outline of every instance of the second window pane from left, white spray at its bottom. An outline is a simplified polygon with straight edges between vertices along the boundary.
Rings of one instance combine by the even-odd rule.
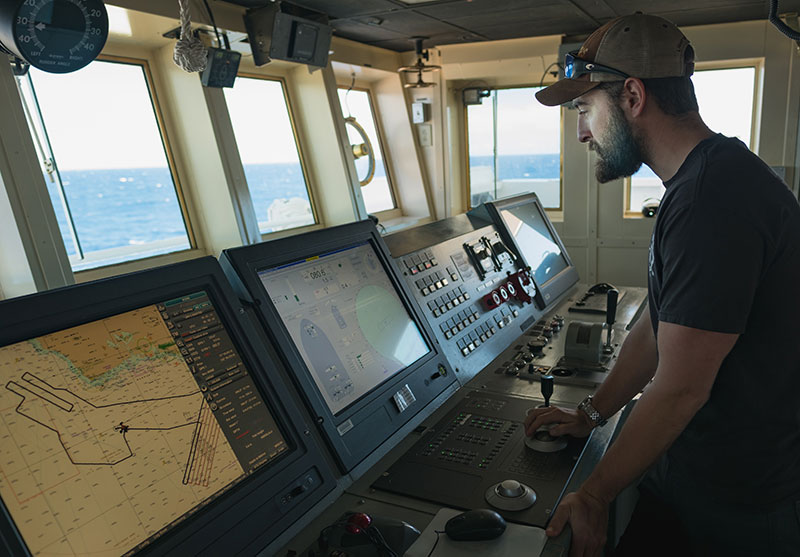
[[[261,234],[315,224],[283,82],[240,75],[225,101]]]

